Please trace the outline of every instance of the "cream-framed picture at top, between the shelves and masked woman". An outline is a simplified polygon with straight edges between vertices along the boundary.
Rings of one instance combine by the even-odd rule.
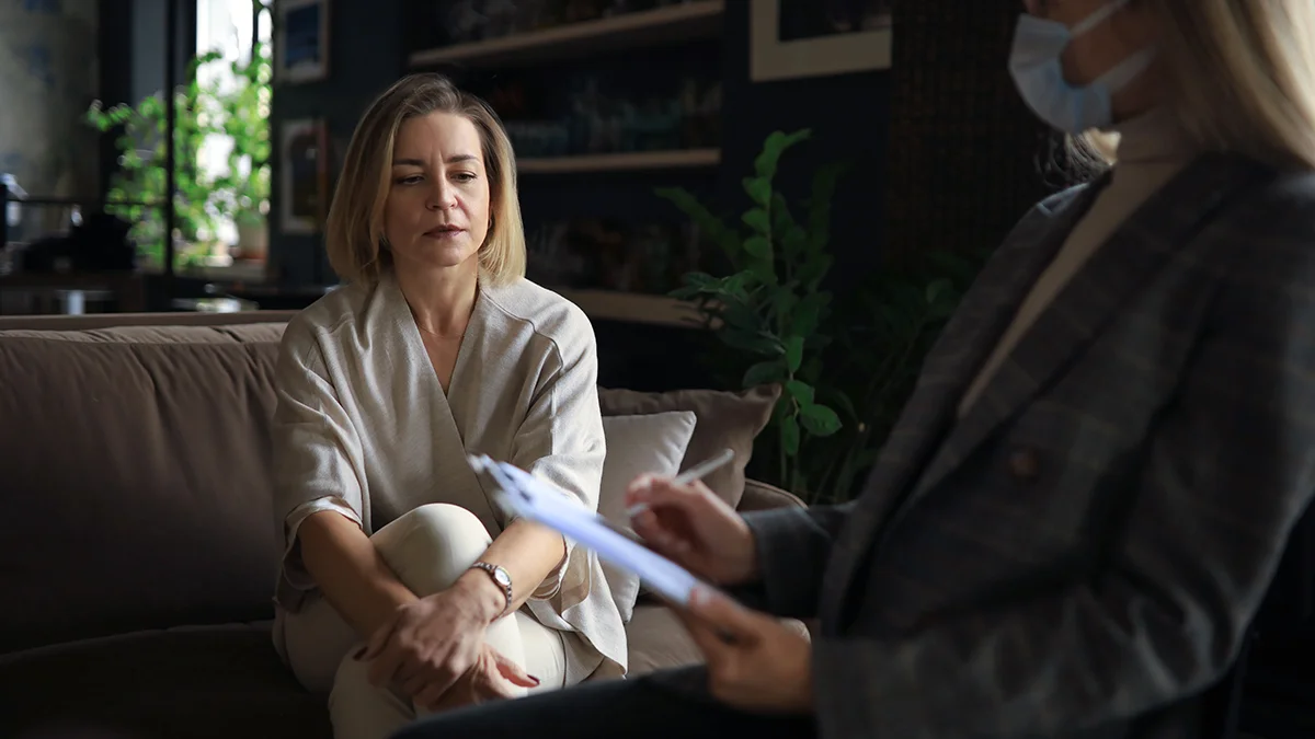
[[[890,68],[893,0],[750,0],[750,79]]]

